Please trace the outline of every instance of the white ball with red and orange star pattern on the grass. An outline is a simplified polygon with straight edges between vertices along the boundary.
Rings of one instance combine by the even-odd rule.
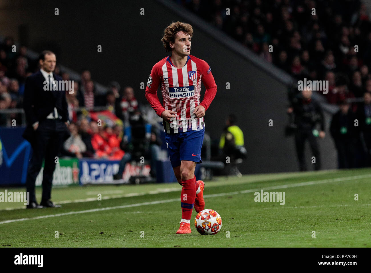
[[[212,209],[204,209],[196,215],[194,226],[202,235],[217,234],[221,229],[221,217]]]

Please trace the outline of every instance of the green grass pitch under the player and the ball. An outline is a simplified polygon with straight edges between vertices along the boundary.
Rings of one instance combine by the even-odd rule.
[[[0,192],[5,189],[24,191]],[[254,192],[261,189],[285,192],[285,205],[255,202]],[[177,183],[69,186],[53,188],[52,200],[61,208],[24,209],[22,203],[0,202],[0,247],[371,246],[371,169],[206,181],[205,208],[219,212],[223,221],[216,235],[198,234],[195,211],[192,233],[175,234],[180,191]],[[40,195],[38,187],[38,201]]]

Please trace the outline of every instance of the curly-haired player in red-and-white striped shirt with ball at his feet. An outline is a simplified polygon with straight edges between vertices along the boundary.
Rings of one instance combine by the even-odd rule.
[[[166,27],[161,41],[170,56],[152,68],[145,97],[163,118],[165,140],[175,177],[182,186],[182,219],[177,234],[191,233],[190,220],[193,207],[200,212],[205,207],[204,182],[196,181],[194,169],[201,163],[204,139],[204,116],[216,95],[216,84],[210,66],[190,55],[193,28],[183,22]],[[206,92],[200,103],[201,81]],[[161,85],[164,105],[157,97]]]

